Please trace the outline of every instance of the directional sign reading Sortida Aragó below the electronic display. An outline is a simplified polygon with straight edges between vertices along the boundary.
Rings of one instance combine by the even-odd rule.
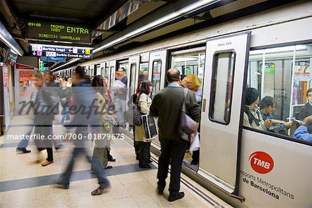
[[[31,55],[59,57],[59,58],[86,58],[92,59],[92,49],[87,47],[49,46],[43,44],[30,44]],[[55,61],[55,60],[54,60]]]

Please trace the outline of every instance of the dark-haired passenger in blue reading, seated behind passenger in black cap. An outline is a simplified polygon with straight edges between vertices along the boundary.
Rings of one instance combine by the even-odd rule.
[[[281,135],[287,135],[287,130],[291,128],[291,125],[293,125],[293,121],[280,121],[277,119],[274,119],[272,116],[272,112],[275,111],[276,101],[271,96],[265,96],[261,102],[260,102],[260,112],[262,119],[266,121],[266,119],[270,119],[272,122],[272,126],[268,128],[271,132],[276,132]]]

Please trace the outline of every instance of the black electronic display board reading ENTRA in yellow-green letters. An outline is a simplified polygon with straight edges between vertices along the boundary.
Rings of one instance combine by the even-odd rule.
[[[62,42],[92,43],[92,32],[85,26],[44,21],[26,21],[26,38]]]

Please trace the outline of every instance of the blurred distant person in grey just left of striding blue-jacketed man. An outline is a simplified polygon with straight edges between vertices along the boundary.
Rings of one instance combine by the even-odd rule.
[[[60,103],[63,107],[62,110],[62,120],[61,123],[64,123],[64,120],[69,120],[69,102],[71,96],[73,96],[73,92],[71,91],[71,87],[66,87],[67,81],[62,81],[61,87],[58,90],[58,94],[60,96]]]

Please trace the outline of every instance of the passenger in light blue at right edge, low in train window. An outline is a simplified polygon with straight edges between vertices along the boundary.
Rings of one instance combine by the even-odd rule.
[[[312,142],[312,116],[307,116],[303,119],[300,127],[295,130],[293,137]]]

